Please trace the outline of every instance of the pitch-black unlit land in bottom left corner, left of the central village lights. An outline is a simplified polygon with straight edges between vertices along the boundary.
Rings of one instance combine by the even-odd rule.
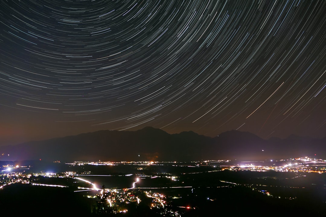
[[[86,215],[92,213],[92,201],[81,197],[69,188],[54,188],[15,183],[1,189],[2,213],[12,216]]]

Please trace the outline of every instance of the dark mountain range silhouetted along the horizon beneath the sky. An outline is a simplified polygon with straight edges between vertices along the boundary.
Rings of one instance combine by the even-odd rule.
[[[215,138],[195,132],[169,134],[145,127],[137,131],[101,130],[19,145],[0,146],[0,160],[49,161],[192,161],[201,159],[274,159],[326,156],[326,137],[290,136],[263,140],[236,130]],[[8,156],[9,154],[9,156]]]

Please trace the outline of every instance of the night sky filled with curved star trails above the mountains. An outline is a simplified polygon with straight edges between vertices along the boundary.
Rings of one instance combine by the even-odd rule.
[[[0,25],[0,145],[326,136],[326,1],[1,0]]]

